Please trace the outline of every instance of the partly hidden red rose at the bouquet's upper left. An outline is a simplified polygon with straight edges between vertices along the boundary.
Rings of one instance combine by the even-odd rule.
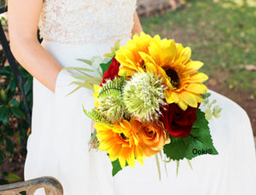
[[[119,66],[120,63],[115,60],[115,58],[112,59],[112,63],[109,65],[107,72],[104,72],[102,77],[102,83],[106,83],[107,80],[113,80],[114,77],[118,76],[119,73]],[[102,86],[102,83],[100,86]]]

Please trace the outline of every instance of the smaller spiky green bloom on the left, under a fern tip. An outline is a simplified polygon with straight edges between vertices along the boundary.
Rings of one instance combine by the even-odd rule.
[[[113,81],[108,80],[103,84],[97,97],[97,111],[102,114],[109,122],[119,123],[125,115],[125,105],[122,101],[122,87],[125,77],[117,77]]]

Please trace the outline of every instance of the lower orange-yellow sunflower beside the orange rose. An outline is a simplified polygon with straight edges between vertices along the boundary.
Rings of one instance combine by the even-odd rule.
[[[123,120],[113,125],[96,123],[94,126],[100,141],[99,149],[107,151],[111,161],[119,159],[122,169],[125,168],[126,163],[135,167],[135,159],[143,164],[143,158],[145,158],[134,126],[133,120],[130,122]]]

